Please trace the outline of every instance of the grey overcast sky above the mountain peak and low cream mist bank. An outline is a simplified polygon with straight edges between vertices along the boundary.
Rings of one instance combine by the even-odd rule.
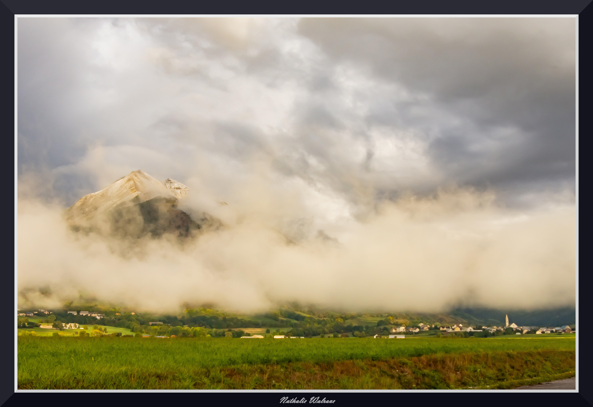
[[[575,19],[18,19],[18,171],[63,205],[136,169],[223,196],[257,160],[353,205],[570,201]]]

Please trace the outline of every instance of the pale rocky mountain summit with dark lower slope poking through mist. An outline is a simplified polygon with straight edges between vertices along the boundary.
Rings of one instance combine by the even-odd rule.
[[[132,171],[66,209],[72,229],[110,237],[192,237],[203,227],[219,224],[207,214],[200,219],[177,208],[189,188],[173,179],[160,181],[142,170]]]

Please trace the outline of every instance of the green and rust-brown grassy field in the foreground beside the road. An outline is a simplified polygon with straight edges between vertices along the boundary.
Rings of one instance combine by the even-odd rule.
[[[538,335],[540,336],[540,335]],[[19,337],[20,389],[505,388],[570,377],[575,338]]]

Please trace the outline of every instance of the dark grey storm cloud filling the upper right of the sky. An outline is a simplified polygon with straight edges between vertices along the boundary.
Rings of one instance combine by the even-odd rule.
[[[574,19],[303,19],[299,32],[463,121],[425,118],[439,127],[428,154],[450,180],[529,189],[574,179]]]

